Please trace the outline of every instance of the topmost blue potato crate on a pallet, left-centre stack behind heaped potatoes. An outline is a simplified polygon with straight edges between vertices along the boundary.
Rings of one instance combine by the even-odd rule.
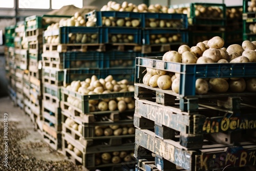
[[[75,36],[74,40],[69,37],[71,33]],[[59,30],[45,31],[44,41],[47,42],[45,37],[54,35],[59,35],[60,44],[100,44],[102,42],[102,28],[60,27]]]

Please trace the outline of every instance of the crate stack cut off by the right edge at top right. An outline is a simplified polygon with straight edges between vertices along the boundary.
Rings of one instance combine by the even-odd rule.
[[[255,1],[243,1],[243,40],[256,40]]]

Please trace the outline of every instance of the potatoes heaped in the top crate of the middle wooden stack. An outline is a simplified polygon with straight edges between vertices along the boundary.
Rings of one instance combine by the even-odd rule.
[[[71,85],[67,86],[68,90],[78,92],[82,95],[93,94],[110,94],[112,92],[134,92],[134,86],[129,85],[126,79],[116,81],[112,75],[107,76],[105,79],[98,79],[93,75],[84,81],[73,81]],[[82,102],[75,97],[68,96],[67,102],[78,109],[82,109]],[[133,97],[117,97],[114,99],[99,99],[89,100],[90,112],[96,111],[120,111],[132,110],[135,108],[135,101]],[[72,111],[72,106],[69,107]]]

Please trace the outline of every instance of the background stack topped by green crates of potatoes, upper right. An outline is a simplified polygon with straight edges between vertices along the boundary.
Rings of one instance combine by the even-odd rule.
[[[214,36],[225,39],[226,5],[190,3],[173,5],[176,13],[187,13],[189,24],[189,47]]]

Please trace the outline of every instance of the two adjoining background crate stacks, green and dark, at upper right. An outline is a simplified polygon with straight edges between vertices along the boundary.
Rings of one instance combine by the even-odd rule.
[[[186,13],[188,16],[189,46],[197,42],[220,36],[225,47],[241,44],[243,24],[242,6],[226,7],[225,4],[189,3],[173,5],[174,13]]]

